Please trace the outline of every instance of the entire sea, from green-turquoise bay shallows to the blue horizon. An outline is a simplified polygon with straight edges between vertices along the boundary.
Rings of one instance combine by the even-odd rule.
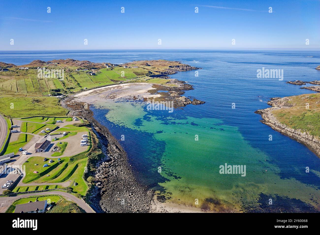
[[[172,78],[194,85],[195,90],[185,95],[206,101],[203,105],[188,105],[173,113],[147,110],[142,102],[100,102],[91,107],[95,118],[116,138],[125,136],[121,144],[140,182],[157,190],[159,200],[203,210],[320,210],[320,159],[262,124],[260,115],[254,114],[267,108],[271,97],[306,93],[286,81],[320,80],[315,69],[320,52],[60,51],[18,53],[0,60],[24,64],[35,57],[112,63],[168,59],[202,67],[198,77],[187,71]],[[284,80],[258,79],[256,71],[262,67],[284,69]],[[246,165],[246,176],[220,174],[219,167],[225,163]],[[305,172],[307,166],[310,173]]]

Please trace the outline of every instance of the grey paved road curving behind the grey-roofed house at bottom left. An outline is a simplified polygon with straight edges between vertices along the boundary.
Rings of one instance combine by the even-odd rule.
[[[4,213],[15,200],[18,200],[20,198],[30,197],[30,196],[39,196],[39,195],[47,195],[47,194],[61,195],[67,200],[70,200],[76,203],[80,208],[84,209],[86,213],[95,213],[94,210],[87,203],[84,202],[84,200],[79,199],[76,196],[73,196],[67,192],[60,192],[60,191],[37,192],[37,193],[20,194],[12,197],[0,197],[0,213]]]

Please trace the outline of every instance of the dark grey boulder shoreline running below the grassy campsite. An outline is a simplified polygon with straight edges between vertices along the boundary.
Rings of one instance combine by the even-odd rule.
[[[61,101],[69,115],[79,116],[92,125],[105,153],[96,166],[95,186],[89,200],[103,212],[150,212],[154,192],[140,185],[133,176],[127,161],[127,154],[109,130],[93,118],[84,103],[73,97]]]

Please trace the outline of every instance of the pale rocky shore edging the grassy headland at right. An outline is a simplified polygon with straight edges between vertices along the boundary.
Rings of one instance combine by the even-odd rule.
[[[270,126],[272,129],[279,131],[280,133],[291,137],[292,139],[306,145],[311,151],[313,151],[318,157],[320,157],[320,140],[306,132],[301,132],[300,130],[292,129],[285,124],[280,123],[277,118],[272,114],[272,111],[291,107],[292,104],[287,101],[289,98],[271,98],[268,105],[272,106],[266,109],[260,109],[255,111],[256,114],[260,114],[262,123]]]

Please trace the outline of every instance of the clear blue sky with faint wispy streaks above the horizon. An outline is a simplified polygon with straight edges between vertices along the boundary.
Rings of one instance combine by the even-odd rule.
[[[0,50],[320,49],[319,0],[2,0],[0,12]]]

